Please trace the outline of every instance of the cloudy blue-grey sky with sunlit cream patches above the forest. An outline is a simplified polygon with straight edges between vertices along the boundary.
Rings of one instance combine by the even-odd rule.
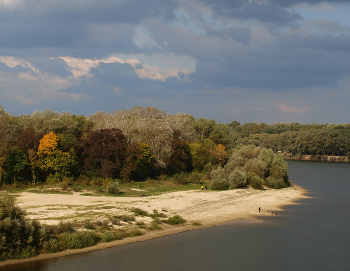
[[[0,105],[348,123],[349,14],[349,0],[0,0]]]

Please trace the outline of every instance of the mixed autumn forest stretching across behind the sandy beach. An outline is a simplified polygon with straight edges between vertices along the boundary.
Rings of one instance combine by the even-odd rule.
[[[243,147],[247,145],[258,148]],[[244,172],[247,166],[237,167],[236,157],[247,156],[241,154],[242,150],[254,152],[254,166],[262,163],[263,168],[272,166],[271,153],[277,152],[349,157],[350,124],[241,124],[236,120],[224,124],[140,106],[89,116],[49,108],[14,116],[0,106],[3,186],[55,183],[63,178],[128,182],[159,175],[212,172],[217,179],[225,179],[227,187],[239,187],[244,178],[253,177],[246,176],[253,171]],[[270,186],[283,187],[286,168],[282,169],[283,176],[274,179],[269,170],[254,175],[260,174]]]

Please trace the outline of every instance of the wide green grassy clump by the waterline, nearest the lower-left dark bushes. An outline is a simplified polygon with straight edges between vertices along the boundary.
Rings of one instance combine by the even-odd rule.
[[[61,245],[66,249],[83,248],[96,244],[101,237],[91,231],[64,232],[59,236]]]

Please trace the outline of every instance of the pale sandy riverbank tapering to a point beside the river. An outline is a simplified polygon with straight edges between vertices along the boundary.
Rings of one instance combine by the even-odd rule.
[[[112,213],[127,214],[134,207],[148,212],[163,211],[168,216],[179,214],[186,219],[186,222],[175,226],[162,224],[163,229],[161,230],[145,231],[144,235],[141,236],[98,243],[91,247],[41,254],[19,260],[7,260],[0,262],[0,266],[104,249],[223,223],[261,222],[262,220],[259,219],[261,217],[274,215],[274,213],[282,215],[282,206],[295,204],[296,200],[307,197],[305,193],[306,190],[294,184],[279,190],[254,190],[251,188],[224,191],[191,190],[147,197],[96,197],[78,193],[66,195],[21,192],[16,195],[18,205],[26,208],[31,219],[36,218],[41,223],[55,224],[62,220],[62,217],[69,217],[70,220],[81,219],[82,214],[86,212],[92,218]],[[261,208],[260,213],[258,207]],[[136,221],[142,220],[148,223],[150,219],[138,216]],[[200,225],[193,225],[193,222],[200,223]]]

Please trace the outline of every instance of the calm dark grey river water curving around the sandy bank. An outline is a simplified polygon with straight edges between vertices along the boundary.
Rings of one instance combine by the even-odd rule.
[[[261,223],[219,225],[2,270],[350,270],[350,163],[288,166],[289,179],[312,198]]]

